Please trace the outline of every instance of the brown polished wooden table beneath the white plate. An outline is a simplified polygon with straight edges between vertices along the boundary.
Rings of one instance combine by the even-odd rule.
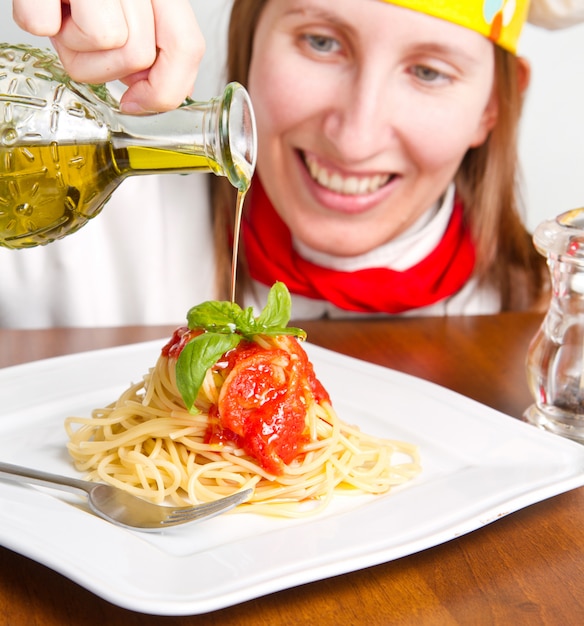
[[[309,340],[399,369],[520,417],[525,352],[541,317],[306,322]],[[172,328],[0,330],[0,366],[166,338]],[[1,512],[0,512],[1,514]],[[558,624],[584,616],[584,489],[424,552],[213,613],[133,613],[0,548],[0,624]]]

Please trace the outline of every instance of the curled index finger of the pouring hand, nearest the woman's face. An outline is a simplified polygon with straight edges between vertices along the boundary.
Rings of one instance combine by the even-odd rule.
[[[152,0],[156,61],[147,74],[131,77],[122,110],[128,113],[165,111],[178,106],[193,90],[205,41],[188,0]]]

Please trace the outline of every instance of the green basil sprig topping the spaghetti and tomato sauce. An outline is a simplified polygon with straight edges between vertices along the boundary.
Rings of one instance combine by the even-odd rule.
[[[288,328],[292,313],[290,293],[284,283],[275,283],[268,294],[266,306],[258,317],[252,307],[242,309],[235,302],[203,302],[187,314],[188,327],[205,332],[197,335],[183,348],[176,364],[176,383],[187,409],[194,407],[197,394],[210,367],[242,339],[254,335],[292,335],[300,339],[306,333]]]

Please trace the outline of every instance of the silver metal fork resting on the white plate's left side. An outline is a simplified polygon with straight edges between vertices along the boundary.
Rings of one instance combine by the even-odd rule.
[[[252,489],[238,491],[230,496],[195,506],[172,507],[153,504],[137,498],[122,489],[104,483],[91,483],[87,480],[50,474],[40,470],[0,462],[0,480],[19,483],[33,483],[52,487],[79,495],[85,492],[89,508],[112,524],[154,532],[170,526],[208,519],[245,502]]]

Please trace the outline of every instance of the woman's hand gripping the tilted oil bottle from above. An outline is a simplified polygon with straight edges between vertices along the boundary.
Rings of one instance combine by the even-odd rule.
[[[127,113],[177,107],[193,89],[205,42],[189,0],[13,0],[15,22],[51,38],[77,81],[121,80]]]

